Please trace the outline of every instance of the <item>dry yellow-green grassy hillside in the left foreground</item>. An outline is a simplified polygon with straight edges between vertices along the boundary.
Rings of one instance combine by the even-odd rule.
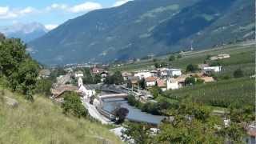
[[[68,117],[47,98],[37,96],[34,103],[30,103],[8,90],[4,95],[17,99],[19,105],[14,109],[6,106],[1,92],[0,143],[122,143],[106,126]]]

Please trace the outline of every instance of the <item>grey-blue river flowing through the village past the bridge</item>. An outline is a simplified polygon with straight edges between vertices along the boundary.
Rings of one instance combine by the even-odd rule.
[[[131,121],[146,122],[157,125],[162,121],[163,118],[165,118],[163,116],[157,116],[142,112],[138,108],[130,106],[127,100],[124,98],[107,98],[103,101],[103,110],[106,110],[108,112],[112,112],[118,106],[124,107],[129,110],[127,119]]]

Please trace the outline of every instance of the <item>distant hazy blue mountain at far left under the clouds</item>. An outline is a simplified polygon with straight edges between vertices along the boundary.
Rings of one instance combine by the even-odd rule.
[[[48,30],[41,23],[16,23],[13,26],[2,26],[0,32],[8,38],[21,38],[24,42],[30,42],[46,34]]]

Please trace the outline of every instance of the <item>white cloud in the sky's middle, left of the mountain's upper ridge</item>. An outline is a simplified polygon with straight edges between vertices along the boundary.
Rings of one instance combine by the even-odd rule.
[[[84,2],[82,4],[70,7],[70,12],[80,13],[97,9],[102,9],[102,5],[97,2]]]

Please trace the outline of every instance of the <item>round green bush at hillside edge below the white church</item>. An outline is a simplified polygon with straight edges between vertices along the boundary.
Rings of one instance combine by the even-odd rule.
[[[78,118],[86,117],[87,110],[82,105],[80,97],[74,92],[63,94],[64,103],[62,104],[64,114],[72,114]]]

